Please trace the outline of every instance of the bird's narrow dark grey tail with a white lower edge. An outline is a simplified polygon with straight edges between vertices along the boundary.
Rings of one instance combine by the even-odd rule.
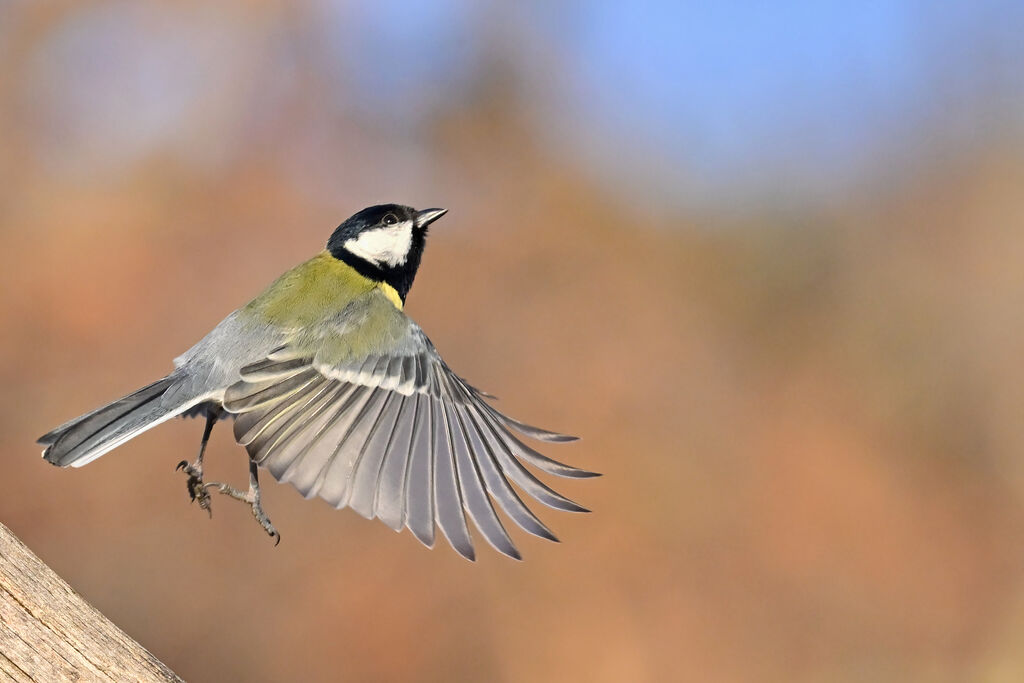
[[[181,413],[189,403],[167,405],[161,400],[177,380],[165,377],[40,436],[38,442],[46,446],[43,458],[59,467],[81,467]]]

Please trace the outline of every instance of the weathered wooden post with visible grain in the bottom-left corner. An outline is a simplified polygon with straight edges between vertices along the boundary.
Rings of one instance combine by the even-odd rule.
[[[180,681],[0,524],[0,681]]]

